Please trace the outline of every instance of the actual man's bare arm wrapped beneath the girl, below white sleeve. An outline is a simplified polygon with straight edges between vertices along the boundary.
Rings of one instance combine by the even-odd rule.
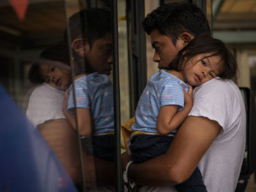
[[[128,176],[137,184],[145,186],[168,186],[184,182],[195,170],[214,141],[221,126],[202,116],[189,116],[173,138],[166,154],[144,163],[132,163]],[[129,161],[122,156],[122,163]]]

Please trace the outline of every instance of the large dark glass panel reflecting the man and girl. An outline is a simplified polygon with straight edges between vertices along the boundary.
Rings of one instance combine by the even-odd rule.
[[[29,191],[113,191],[110,1],[22,2],[24,8],[7,0],[0,3],[0,83],[33,124],[15,127],[22,132],[20,139],[29,138],[20,141],[28,143],[29,154],[15,159],[21,170],[17,175],[26,178],[30,169],[23,170],[24,161],[31,161],[35,170],[29,183],[21,185],[31,186]],[[84,8],[86,15],[68,19]],[[8,145],[16,146],[15,156],[25,150],[14,137],[4,143]],[[17,180],[10,178],[6,188],[20,191],[15,190]]]

